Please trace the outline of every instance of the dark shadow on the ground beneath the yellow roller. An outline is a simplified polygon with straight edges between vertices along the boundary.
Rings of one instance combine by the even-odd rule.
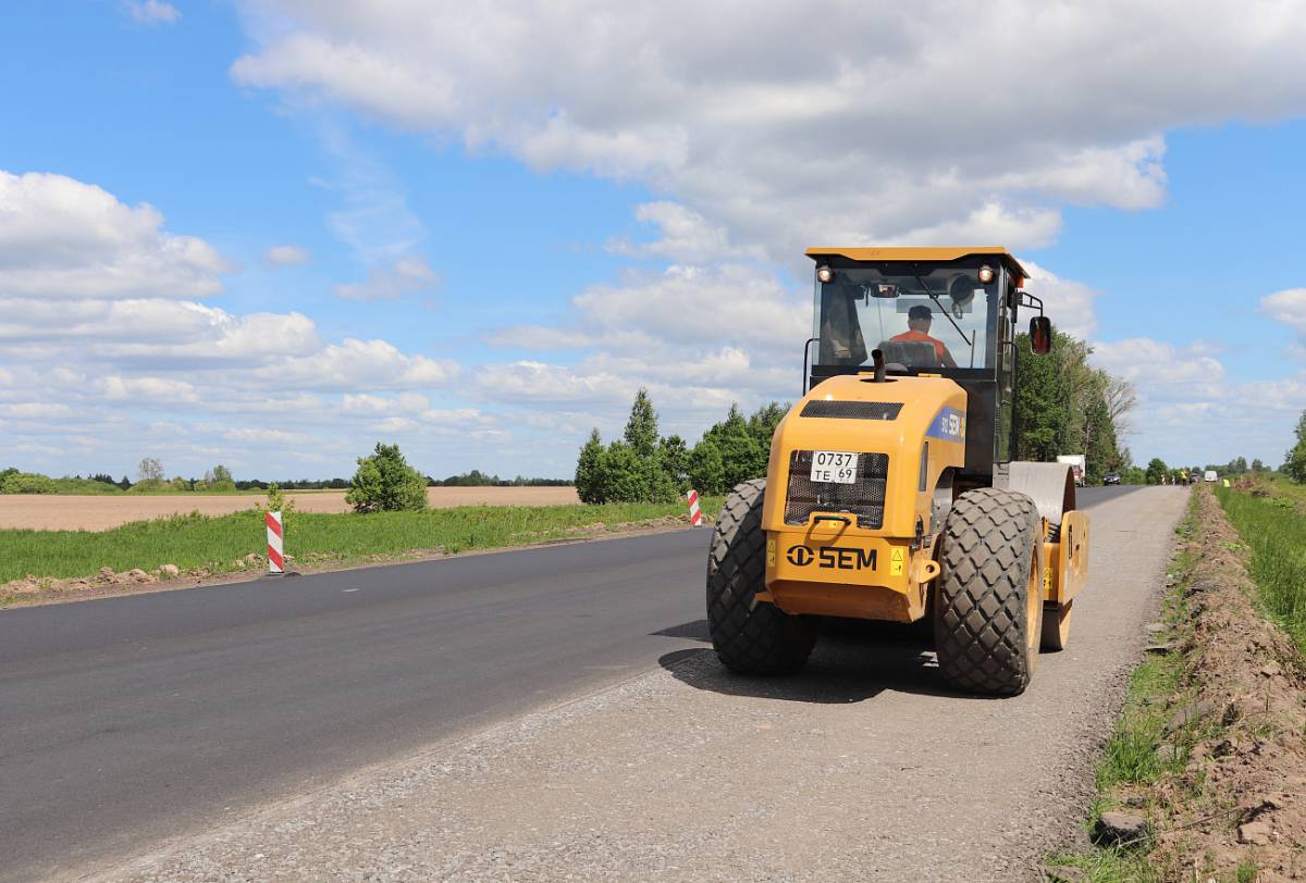
[[[710,640],[697,620],[653,633]],[[884,690],[931,696],[964,696],[939,680],[930,642],[919,629],[882,622],[823,622],[807,666],[788,677],[748,677],[729,672],[710,650],[677,650],[658,664],[699,690],[782,702],[853,703]]]

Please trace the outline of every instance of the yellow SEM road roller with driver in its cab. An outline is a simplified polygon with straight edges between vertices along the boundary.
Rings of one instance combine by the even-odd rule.
[[[786,674],[807,661],[816,617],[929,616],[944,678],[1017,694],[1040,650],[1064,648],[1088,576],[1071,468],[1011,460],[1016,314],[1038,310],[1029,340],[1046,353],[1042,301],[1002,248],[807,254],[810,391],[776,429],[767,479],[731,490],[717,519],[717,655]]]

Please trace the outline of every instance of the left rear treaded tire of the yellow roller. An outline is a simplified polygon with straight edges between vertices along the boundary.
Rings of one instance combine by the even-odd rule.
[[[721,663],[738,674],[791,674],[807,663],[815,626],[754,596],[767,584],[761,501],[767,480],[735,485],[708,553],[708,627]]]

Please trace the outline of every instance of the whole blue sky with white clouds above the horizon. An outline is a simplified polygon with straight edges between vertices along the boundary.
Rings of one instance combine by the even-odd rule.
[[[387,440],[435,475],[568,475],[640,385],[691,441],[791,398],[802,249],[910,241],[1036,265],[1135,383],[1139,462],[1280,462],[1301,17],[819,5],[848,50],[810,4],[10,12],[0,460],[307,477]],[[930,38],[959,27],[983,52]]]

